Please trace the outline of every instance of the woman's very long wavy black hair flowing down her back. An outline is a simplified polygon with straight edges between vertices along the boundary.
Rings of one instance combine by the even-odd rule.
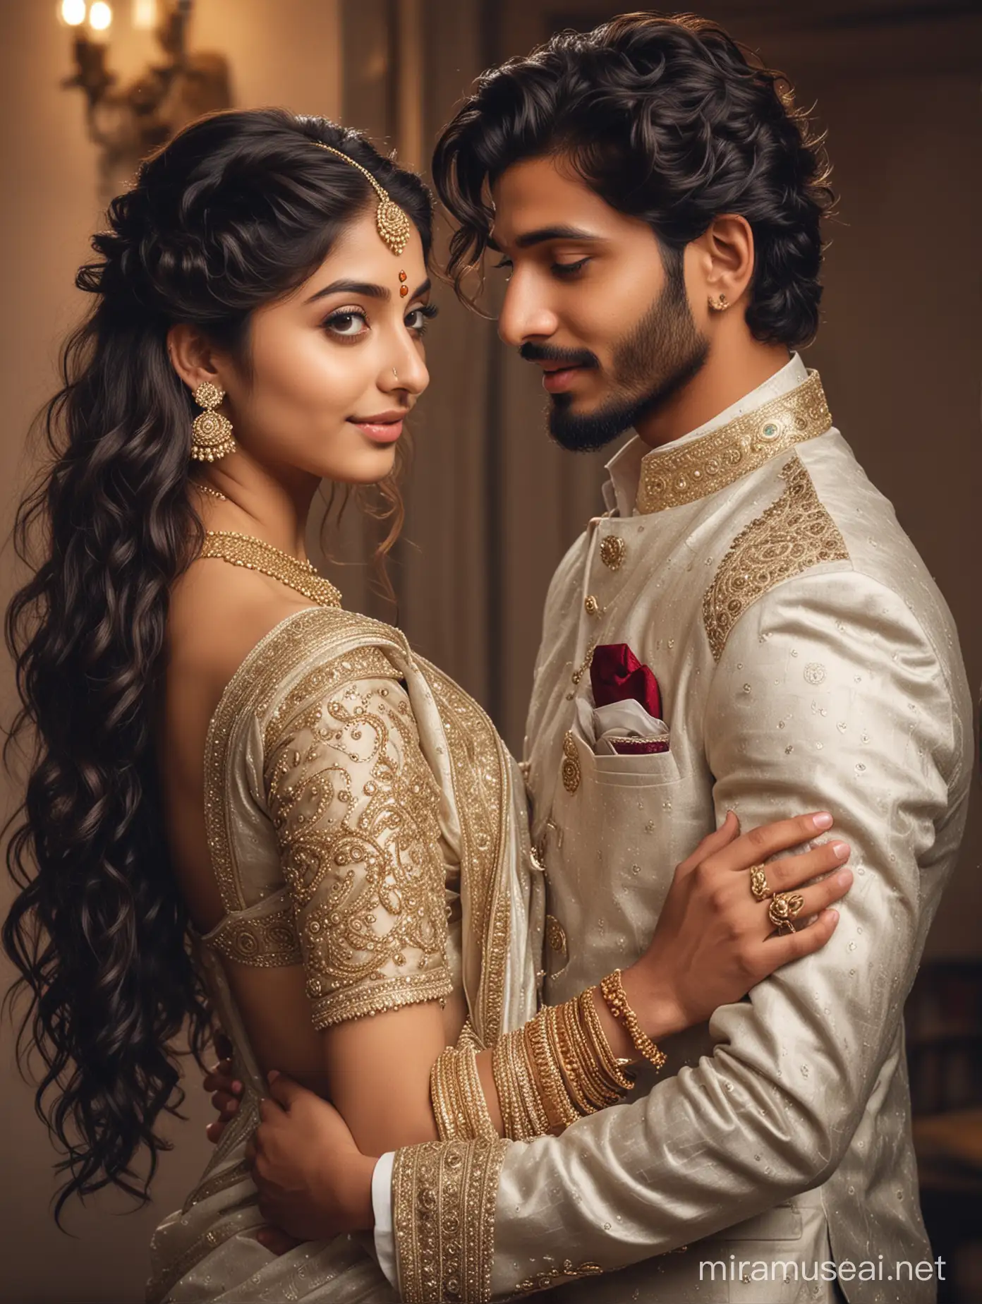
[[[167,333],[192,323],[248,364],[252,312],[301,284],[373,202],[313,141],[376,176],[429,253],[425,186],[360,136],[278,110],[193,124],[93,240],[99,261],[77,284],[94,304],[65,344],[42,419],[51,456],[17,514],[33,578],[7,612],[21,711],[5,756],[30,739],[31,760],[5,829],[20,891],[3,941],[13,992],[30,996],[18,1058],[40,1056],[37,1110],[65,1154],[56,1217],[108,1184],[147,1198],[167,1148],[158,1116],[184,1098],[172,1043],[186,1024],[201,1061],[207,1039],[154,756],[168,595],[201,542],[196,408]]]

